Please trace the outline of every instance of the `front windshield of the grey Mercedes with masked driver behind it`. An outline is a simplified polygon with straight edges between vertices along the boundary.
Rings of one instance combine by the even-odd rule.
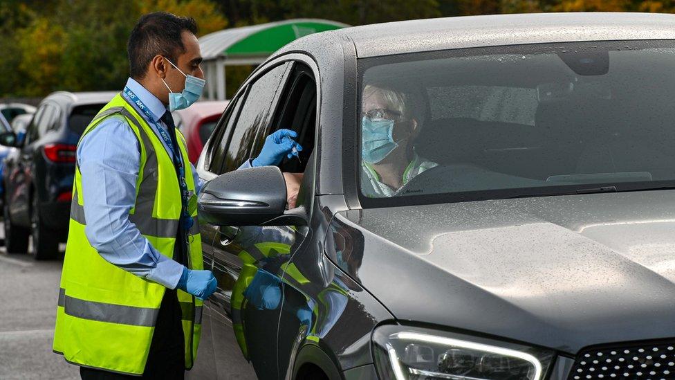
[[[675,186],[675,42],[499,46],[360,62],[365,203]]]

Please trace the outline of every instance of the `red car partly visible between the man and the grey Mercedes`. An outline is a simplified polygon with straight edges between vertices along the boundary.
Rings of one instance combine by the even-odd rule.
[[[227,100],[204,101],[173,112],[176,128],[183,132],[187,139],[187,155],[190,162],[197,162],[204,144],[227,106]]]

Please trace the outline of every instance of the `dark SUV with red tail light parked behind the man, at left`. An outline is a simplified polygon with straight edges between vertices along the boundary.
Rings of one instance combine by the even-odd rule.
[[[40,102],[26,136],[10,134],[3,145],[16,146],[5,159],[5,245],[10,253],[26,253],[33,240],[36,260],[56,257],[68,234],[75,176],[75,147],[113,92],[57,91]]]

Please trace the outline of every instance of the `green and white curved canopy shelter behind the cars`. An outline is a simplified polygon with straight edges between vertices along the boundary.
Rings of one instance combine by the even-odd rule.
[[[206,98],[225,100],[225,66],[261,64],[289,42],[348,25],[323,19],[291,19],[210,33],[199,39],[207,78]]]

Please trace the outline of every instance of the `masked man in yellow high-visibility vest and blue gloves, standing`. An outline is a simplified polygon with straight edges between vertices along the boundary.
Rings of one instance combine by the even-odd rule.
[[[130,77],[77,144],[71,219],[53,349],[83,379],[183,379],[201,333],[201,188],[171,111],[205,84],[194,19],[145,15],[131,31]],[[243,166],[301,150],[280,129]],[[189,166],[188,166],[189,165]]]

